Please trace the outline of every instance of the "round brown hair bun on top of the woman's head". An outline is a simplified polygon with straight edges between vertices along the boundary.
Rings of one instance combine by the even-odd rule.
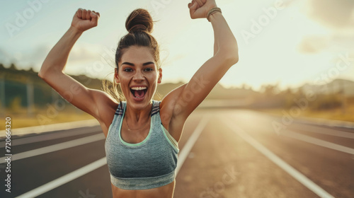
[[[147,31],[148,33],[152,33],[152,28],[154,27],[154,23],[152,21],[152,16],[150,13],[142,8],[138,8],[128,16],[127,21],[125,21],[125,28],[127,28],[128,32],[133,32],[137,30]]]

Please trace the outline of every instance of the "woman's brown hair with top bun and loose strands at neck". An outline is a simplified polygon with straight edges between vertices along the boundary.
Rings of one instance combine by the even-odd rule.
[[[116,69],[118,70],[118,62],[120,62],[122,55],[130,46],[149,47],[154,56],[157,69],[159,69],[161,67],[159,44],[151,35],[152,29],[154,28],[154,21],[152,21],[152,16],[150,16],[149,11],[142,8],[132,11],[127,17],[127,21],[125,21],[125,28],[128,33],[120,39],[117,51],[115,52]],[[115,81],[110,85],[105,82],[103,89],[117,101],[125,100],[119,84],[115,83]]]

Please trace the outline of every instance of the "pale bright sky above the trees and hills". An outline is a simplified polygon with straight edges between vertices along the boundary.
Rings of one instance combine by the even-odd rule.
[[[152,15],[152,35],[161,47],[163,82],[188,82],[213,54],[207,19],[191,19],[184,0],[1,1],[0,63],[39,71],[48,52],[70,27],[77,8],[101,13],[74,45],[65,72],[113,79],[114,54],[127,33],[125,20],[135,8]],[[354,81],[353,0],[217,0],[239,45],[239,62],[220,83],[259,90],[335,78]]]

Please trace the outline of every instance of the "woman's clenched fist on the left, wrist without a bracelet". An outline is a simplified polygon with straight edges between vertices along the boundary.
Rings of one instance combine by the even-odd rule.
[[[85,30],[96,27],[98,18],[100,18],[100,13],[79,8],[72,19],[72,27],[84,32]]]

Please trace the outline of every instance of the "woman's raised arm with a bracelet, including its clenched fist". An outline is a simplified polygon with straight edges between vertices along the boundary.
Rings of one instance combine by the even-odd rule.
[[[207,12],[217,6],[215,0],[193,0],[188,7],[191,18],[206,18]],[[239,61],[236,39],[222,13],[213,13],[209,19],[215,35],[214,56],[200,66],[188,83],[166,95],[170,102],[173,100],[172,117],[187,119],[227,70]]]

